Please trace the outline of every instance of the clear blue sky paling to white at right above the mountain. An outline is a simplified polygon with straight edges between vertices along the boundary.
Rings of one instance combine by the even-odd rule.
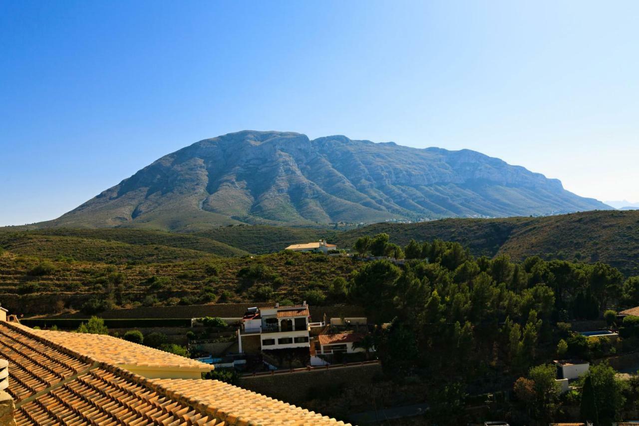
[[[470,148],[639,201],[637,1],[0,0],[0,225],[243,129]]]

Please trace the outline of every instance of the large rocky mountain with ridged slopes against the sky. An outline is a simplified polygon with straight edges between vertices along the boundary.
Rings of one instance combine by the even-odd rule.
[[[610,207],[471,150],[245,130],[165,155],[41,226],[191,231],[594,209]]]

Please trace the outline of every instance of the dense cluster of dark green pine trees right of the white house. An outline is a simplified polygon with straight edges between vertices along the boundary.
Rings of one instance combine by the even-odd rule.
[[[381,247],[389,244],[387,237],[364,237],[355,249],[360,255],[389,253]],[[610,352],[607,340],[571,333],[567,322],[639,304],[639,278],[624,283],[617,269],[603,263],[474,258],[460,244],[443,241],[410,241],[402,251],[403,265],[371,261],[348,287],[351,301],[365,306],[376,324],[385,371],[400,379],[420,377],[438,389],[462,383],[466,390],[481,390],[481,384],[484,390],[512,390],[514,379],[525,375],[516,393],[529,400],[535,418],[548,418],[558,393],[554,366],[531,367],[556,356]],[[606,319],[613,322],[615,312]]]

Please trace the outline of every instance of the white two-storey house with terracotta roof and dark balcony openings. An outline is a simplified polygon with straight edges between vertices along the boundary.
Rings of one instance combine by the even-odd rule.
[[[240,329],[240,352],[247,341],[259,336],[259,348],[288,349],[310,347],[309,306],[304,302],[295,306],[279,306],[272,308],[249,308],[242,318]]]

